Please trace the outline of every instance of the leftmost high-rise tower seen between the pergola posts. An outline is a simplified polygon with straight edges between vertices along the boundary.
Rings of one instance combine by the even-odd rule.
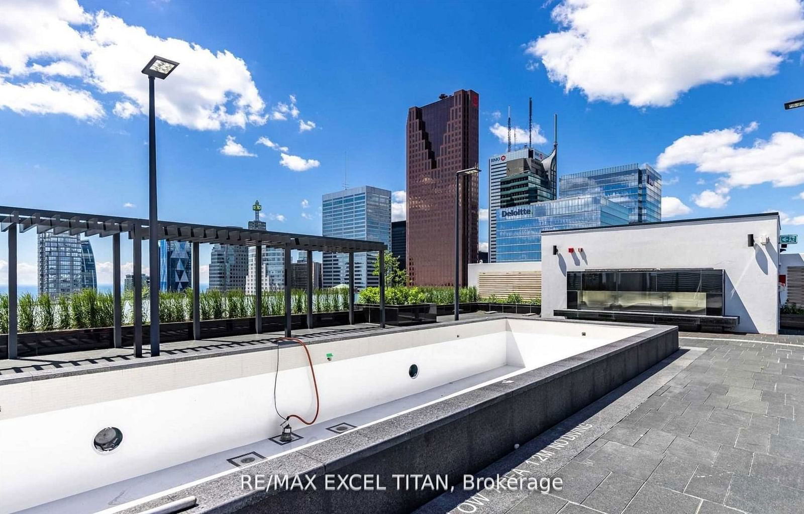
[[[36,246],[39,295],[69,295],[84,287],[80,236],[44,232]]]

